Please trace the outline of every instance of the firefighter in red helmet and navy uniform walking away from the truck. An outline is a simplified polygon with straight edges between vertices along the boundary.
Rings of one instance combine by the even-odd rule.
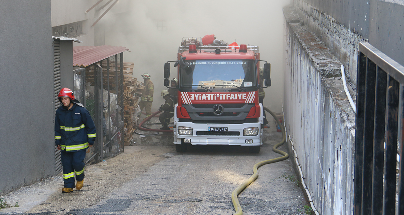
[[[84,158],[86,149],[95,141],[95,125],[90,113],[74,98],[72,90],[63,88],[58,95],[63,104],[55,115],[55,144],[61,150],[63,165],[62,193],[73,192],[74,175],[76,189],[80,190],[84,183]]]

